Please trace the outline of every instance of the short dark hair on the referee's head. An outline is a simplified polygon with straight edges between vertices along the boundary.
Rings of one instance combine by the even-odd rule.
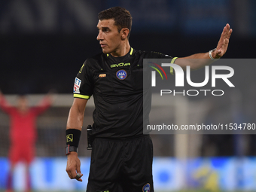
[[[132,30],[132,20],[133,17],[129,11],[125,8],[113,7],[108,8],[104,11],[99,12],[99,20],[109,20],[114,19],[114,24],[117,26],[118,31],[120,32],[123,28],[129,29],[129,34],[127,38],[130,37],[130,32]]]

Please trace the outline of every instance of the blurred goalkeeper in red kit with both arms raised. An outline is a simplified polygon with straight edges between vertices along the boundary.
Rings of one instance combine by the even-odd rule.
[[[7,178],[7,190],[13,191],[14,167],[19,161],[26,163],[26,191],[31,190],[29,165],[35,157],[37,139],[36,118],[50,107],[53,99],[50,94],[35,107],[29,107],[26,96],[19,96],[17,106],[10,105],[0,90],[0,108],[10,117],[10,149],[8,158],[10,169]]]

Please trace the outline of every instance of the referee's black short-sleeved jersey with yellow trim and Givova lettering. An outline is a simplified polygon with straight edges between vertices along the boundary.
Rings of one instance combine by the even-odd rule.
[[[90,99],[93,95],[93,136],[107,139],[142,136],[143,59],[146,58],[172,57],[131,47],[125,56],[99,53],[84,62],[75,78],[74,97]]]

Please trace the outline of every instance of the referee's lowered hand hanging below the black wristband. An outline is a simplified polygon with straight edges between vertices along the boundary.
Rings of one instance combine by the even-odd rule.
[[[78,181],[83,181],[81,177],[83,174],[81,173],[81,162],[78,158],[78,153],[77,152],[70,152],[69,155],[67,155],[68,161],[67,161],[67,166],[66,166],[66,172],[69,175],[69,178],[71,179],[76,179]]]

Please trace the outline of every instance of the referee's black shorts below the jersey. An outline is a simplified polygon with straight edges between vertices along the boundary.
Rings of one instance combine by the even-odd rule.
[[[87,192],[152,192],[152,162],[150,136],[124,140],[96,138]]]

